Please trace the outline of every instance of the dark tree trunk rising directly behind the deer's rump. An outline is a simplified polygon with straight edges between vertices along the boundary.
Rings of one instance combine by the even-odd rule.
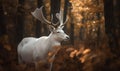
[[[23,23],[24,23],[24,1],[19,0],[18,12],[17,12],[17,26],[16,26],[16,42],[19,43],[23,38]]]

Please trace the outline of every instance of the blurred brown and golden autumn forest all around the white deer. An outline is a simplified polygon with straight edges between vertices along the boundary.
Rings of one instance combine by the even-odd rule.
[[[16,49],[24,37],[49,35],[48,26],[31,15],[41,6],[54,23],[60,9],[64,20],[69,17],[64,31],[70,40],[62,42],[53,71],[119,71],[120,0],[0,0],[0,71],[34,71],[18,64]]]

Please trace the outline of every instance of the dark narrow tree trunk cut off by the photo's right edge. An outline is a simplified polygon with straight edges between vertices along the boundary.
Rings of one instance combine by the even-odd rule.
[[[116,45],[117,48],[120,50],[120,0],[114,0],[114,25]]]

